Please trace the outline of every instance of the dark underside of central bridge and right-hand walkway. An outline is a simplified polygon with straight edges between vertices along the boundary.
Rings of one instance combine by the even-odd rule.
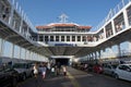
[[[124,41],[131,41],[131,29],[127,29],[115,37],[107,39],[96,47],[45,47],[50,51],[50,55],[74,55],[84,57],[92,52],[104,50],[106,48],[119,45]]]

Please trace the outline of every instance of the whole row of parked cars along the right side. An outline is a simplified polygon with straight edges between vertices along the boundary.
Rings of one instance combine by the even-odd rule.
[[[106,63],[73,63],[72,67],[85,71],[93,72],[97,74],[104,74],[112,76],[117,79],[124,79],[131,82],[131,61],[120,61],[120,62],[106,62]]]

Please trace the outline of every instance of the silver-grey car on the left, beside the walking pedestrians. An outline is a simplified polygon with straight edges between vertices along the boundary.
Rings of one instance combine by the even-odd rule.
[[[15,63],[13,69],[19,73],[19,78],[25,80],[26,77],[33,76],[33,67],[29,63]]]

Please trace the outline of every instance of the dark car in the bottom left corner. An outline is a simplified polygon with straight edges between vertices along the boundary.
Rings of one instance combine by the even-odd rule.
[[[17,73],[9,66],[0,66],[0,87],[16,87]]]

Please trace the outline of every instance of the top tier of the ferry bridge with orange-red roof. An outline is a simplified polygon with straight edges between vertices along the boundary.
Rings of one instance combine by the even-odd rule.
[[[86,33],[92,28],[91,26],[81,26],[74,23],[51,23],[48,25],[36,26],[38,32],[76,32]]]

